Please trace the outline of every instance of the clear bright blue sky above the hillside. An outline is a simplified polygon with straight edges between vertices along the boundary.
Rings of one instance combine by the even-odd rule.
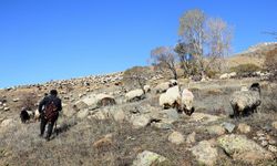
[[[191,9],[233,27],[233,52],[274,41],[277,0],[0,0],[0,87],[148,65]]]

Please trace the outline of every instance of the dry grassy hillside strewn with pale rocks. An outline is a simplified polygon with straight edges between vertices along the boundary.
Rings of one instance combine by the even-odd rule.
[[[261,105],[230,118],[229,97],[258,82]],[[140,90],[124,87],[123,73],[0,90],[0,165],[277,165],[277,84],[235,76],[177,86],[194,94],[188,116],[165,110],[158,98],[170,80],[153,74]],[[22,124],[22,106],[35,111],[57,89],[63,111],[52,139],[39,137],[39,122]]]

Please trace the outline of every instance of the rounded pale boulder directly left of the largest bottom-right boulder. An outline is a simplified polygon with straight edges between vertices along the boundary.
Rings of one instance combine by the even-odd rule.
[[[198,145],[194,146],[191,151],[199,164],[215,165],[218,153],[216,147],[213,147],[208,141],[199,142]]]

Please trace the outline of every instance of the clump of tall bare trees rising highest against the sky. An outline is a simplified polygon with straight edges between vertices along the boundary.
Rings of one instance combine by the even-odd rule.
[[[224,56],[228,54],[232,41],[232,30],[225,21],[207,18],[198,9],[189,10],[179,19],[178,34],[181,40],[175,51],[185,64],[188,63],[184,61],[184,55],[193,56],[194,61],[189,64],[197,70],[191,74],[205,76],[211,68],[217,66],[218,71],[222,70]],[[183,69],[187,70],[184,65]]]

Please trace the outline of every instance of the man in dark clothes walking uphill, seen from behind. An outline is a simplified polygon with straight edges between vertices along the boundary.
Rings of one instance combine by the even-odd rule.
[[[53,126],[62,111],[62,101],[58,97],[58,91],[51,90],[50,95],[45,96],[39,104],[41,117],[40,136],[43,137],[45,126],[48,124],[48,133],[45,139],[49,142],[52,135]]]

